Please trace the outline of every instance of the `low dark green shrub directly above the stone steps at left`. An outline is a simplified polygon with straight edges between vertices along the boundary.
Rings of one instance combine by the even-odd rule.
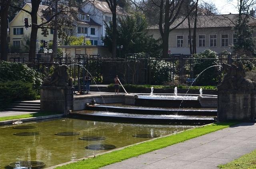
[[[33,89],[32,83],[22,80],[0,83],[0,108],[5,108],[16,100],[35,100],[36,98],[36,90]]]

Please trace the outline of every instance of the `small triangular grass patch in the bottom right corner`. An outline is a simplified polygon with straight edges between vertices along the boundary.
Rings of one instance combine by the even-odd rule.
[[[221,169],[256,169],[256,150],[218,167]]]

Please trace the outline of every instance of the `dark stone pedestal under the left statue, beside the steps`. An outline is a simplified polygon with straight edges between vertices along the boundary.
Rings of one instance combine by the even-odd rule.
[[[73,110],[73,90],[71,86],[41,86],[41,110],[68,114]]]

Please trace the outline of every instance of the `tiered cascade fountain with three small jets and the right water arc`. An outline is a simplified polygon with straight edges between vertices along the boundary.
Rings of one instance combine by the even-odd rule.
[[[198,94],[188,94],[188,90],[186,94],[178,94],[178,89],[175,87],[173,94],[157,94],[153,93],[154,88],[151,87],[150,94],[126,94],[123,96],[124,101],[121,103],[133,104],[134,106],[124,104],[87,106],[86,110],[91,110],[92,112],[87,113],[86,110],[78,111],[76,117],[97,118],[98,120],[113,122],[136,121],[140,123],[203,124],[214,122],[214,116],[217,115],[217,95],[202,94],[202,88],[200,88]],[[107,112],[106,108],[108,109]]]

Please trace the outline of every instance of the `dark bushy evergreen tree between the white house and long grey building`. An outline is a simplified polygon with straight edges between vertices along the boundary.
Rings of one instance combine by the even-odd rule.
[[[126,18],[119,18],[117,27],[117,43],[123,45],[122,53],[148,53],[150,56],[158,55],[160,47],[152,35],[148,35],[148,24],[144,15],[135,13]],[[112,49],[112,24],[105,23],[106,36],[103,37],[111,51]],[[122,55],[124,56],[124,55]]]

